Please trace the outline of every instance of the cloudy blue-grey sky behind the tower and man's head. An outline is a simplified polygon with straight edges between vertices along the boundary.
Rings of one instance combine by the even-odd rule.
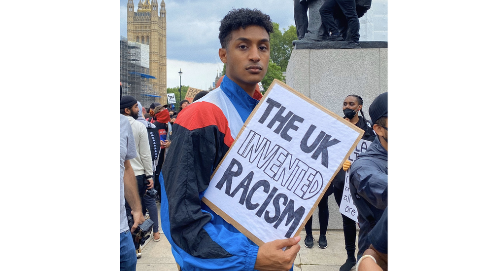
[[[160,2],[159,0],[159,6]],[[294,24],[292,0],[164,0],[167,11],[167,87],[207,89],[221,72],[218,39],[220,20],[233,8],[257,8],[280,29]],[[137,11],[138,0],[134,0]],[[159,7],[160,8],[160,7]],[[120,36],[127,37],[127,0],[120,0]]]

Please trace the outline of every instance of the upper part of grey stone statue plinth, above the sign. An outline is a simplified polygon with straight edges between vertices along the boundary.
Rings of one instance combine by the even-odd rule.
[[[357,94],[363,98],[364,116],[369,119],[369,106],[387,91],[387,42],[361,41],[361,49],[328,47],[345,43],[296,40],[287,65],[286,83],[339,116],[344,116],[345,97]],[[380,47],[366,48],[376,44]],[[307,49],[309,46],[315,49]]]

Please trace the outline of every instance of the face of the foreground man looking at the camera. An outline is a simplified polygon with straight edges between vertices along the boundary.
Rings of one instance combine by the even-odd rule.
[[[244,90],[254,90],[267,73],[271,53],[266,29],[250,25],[231,32],[227,48],[219,49],[226,75]]]

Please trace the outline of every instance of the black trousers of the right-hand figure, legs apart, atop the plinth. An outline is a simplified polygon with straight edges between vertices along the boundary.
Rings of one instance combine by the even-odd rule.
[[[347,27],[350,30],[350,40],[358,43],[359,18],[357,17],[355,0],[326,0],[319,9],[322,23],[325,25],[327,31],[331,33],[341,33],[334,20],[334,12],[338,6],[347,20]]]

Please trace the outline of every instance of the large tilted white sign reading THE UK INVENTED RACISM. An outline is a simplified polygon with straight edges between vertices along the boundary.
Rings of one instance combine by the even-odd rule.
[[[274,80],[202,200],[257,245],[299,235],[362,134]]]

